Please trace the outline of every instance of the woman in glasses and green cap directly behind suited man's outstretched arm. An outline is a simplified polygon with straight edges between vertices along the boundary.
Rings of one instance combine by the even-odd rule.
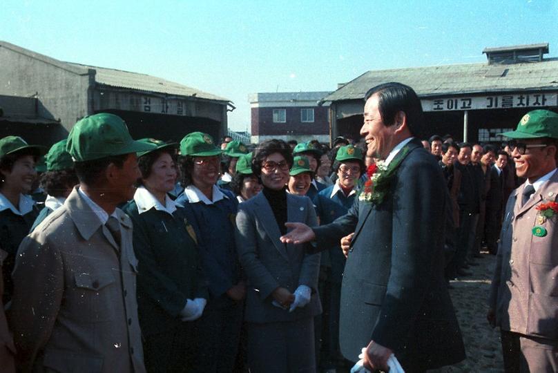
[[[365,169],[363,152],[352,145],[341,146],[334,162],[337,180],[334,185],[320,191],[314,197],[320,224],[329,224],[344,216],[358,195],[358,179]],[[316,317],[316,339],[322,341],[318,361],[320,369],[336,368],[340,371],[350,367],[341,355],[339,347],[339,305],[341,279],[345,270],[345,256],[339,245],[322,251],[320,266],[320,298],[323,315]],[[318,338],[320,337],[320,338]]]

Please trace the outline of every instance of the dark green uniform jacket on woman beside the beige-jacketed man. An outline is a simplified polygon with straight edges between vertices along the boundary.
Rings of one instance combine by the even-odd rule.
[[[171,215],[153,207],[140,214],[133,200],[124,207],[134,224],[133,247],[140,260],[137,305],[146,335],[180,325],[186,300],[209,296],[195,241],[198,229],[187,209],[177,206]]]

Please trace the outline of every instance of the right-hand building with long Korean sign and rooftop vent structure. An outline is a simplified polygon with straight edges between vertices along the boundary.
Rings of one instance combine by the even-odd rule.
[[[359,138],[364,96],[386,82],[411,86],[421,98],[426,132],[455,139],[500,141],[527,111],[558,110],[558,59],[543,58],[548,44],[485,48],[484,64],[372,70],[324,98],[330,105],[331,135]]]

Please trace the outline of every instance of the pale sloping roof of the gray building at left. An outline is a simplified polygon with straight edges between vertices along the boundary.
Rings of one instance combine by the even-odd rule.
[[[70,62],[68,62],[68,64],[95,70],[95,82],[106,86],[229,102],[229,99],[224,97],[211,95],[211,93],[206,93],[202,90],[191,88],[189,86],[183,86],[182,84],[170,82],[169,80],[162,79],[160,77],[153,77],[151,75],[141,73],[131,73],[129,71],[116,70],[114,68],[87,66],[73,64]]]

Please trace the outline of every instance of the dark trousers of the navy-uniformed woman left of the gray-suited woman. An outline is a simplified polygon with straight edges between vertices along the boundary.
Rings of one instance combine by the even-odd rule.
[[[240,327],[242,326],[243,302],[234,302],[226,295],[218,300],[209,300],[196,330],[200,345],[199,366],[197,372],[227,373],[233,372]],[[218,307],[215,304],[218,303]]]

